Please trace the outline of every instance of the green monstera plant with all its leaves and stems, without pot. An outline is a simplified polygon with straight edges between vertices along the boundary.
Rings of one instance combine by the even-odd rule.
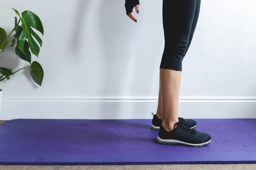
[[[0,58],[0,82],[4,79],[10,79],[11,76],[13,76],[15,73],[22,69],[30,69],[31,77],[38,85],[41,86],[43,82],[43,68],[36,61],[31,63],[30,51],[38,58],[40,47],[42,47],[42,39],[37,35],[37,33],[35,33],[32,28],[38,30],[43,35],[42,22],[40,21],[39,17],[31,11],[24,11],[20,15],[20,13],[16,9],[13,10],[18,15],[19,21],[17,21],[17,17],[14,17],[15,26],[8,36],[6,34],[6,31],[3,28],[0,28],[0,50],[2,50],[2,52],[5,50],[5,46],[7,44],[9,36],[15,31],[15,34],[13,35],[14,38],[10,47],[15,45],[15,41],[17,39],[15,52],[22,60],[27,61],[30,66],[23,67],[15,72],[12,72],[12,68],[2,67]],[[20,22],[21,25],[19,25]],[[38,44],[40,45],[40,47]]]

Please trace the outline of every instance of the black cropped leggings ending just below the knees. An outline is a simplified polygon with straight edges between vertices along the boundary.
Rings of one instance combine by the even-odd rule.
[[[164,51],[160,68],[182,71],[191,44],[201,0],[163,0]]]

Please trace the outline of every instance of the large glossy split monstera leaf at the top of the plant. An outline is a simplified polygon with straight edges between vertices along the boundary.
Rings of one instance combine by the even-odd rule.
[[[42,47],[42,40],[33,31],[33,29],[31,27],[35,28],[36,30],[38,30],[39,32],[41,32],[43,34],[42,22],[39,19],[39,17],[31,11],[22,12],[21,21],[22,21],[21,26],[23,27],[23,31],[18,40],[18,47],[19,47],[19,49],[21,49],[21,51],[23,53],[25,53],[24,52],[24,44],[25,44],[26,39],[28,39],[28,44],[29,44],[31,52],[38,57],[38,54],[40,52],[40,47],[37,45],[34,38],[38,41],[38,43],[40,44],[41,47]]]

